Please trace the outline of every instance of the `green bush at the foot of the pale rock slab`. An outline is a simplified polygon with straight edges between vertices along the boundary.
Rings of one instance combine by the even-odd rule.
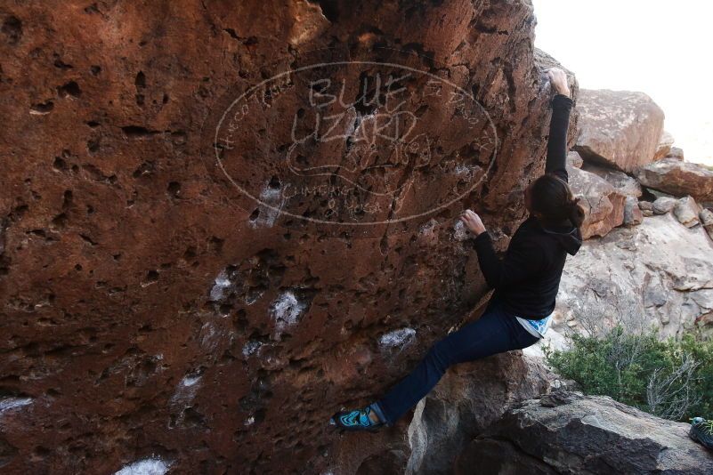
[[[544,351],[587,394],[682,422],[713,418],[713,341],[693,334],[660,340],[653,331],[627,334],[616,326],[604,336],[572,334],[568,350]]]

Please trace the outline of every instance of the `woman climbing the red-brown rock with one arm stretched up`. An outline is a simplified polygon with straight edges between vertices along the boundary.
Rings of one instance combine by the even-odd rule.
[[[347,431],[377,431],[392,427],[441,380],[449,366],[496,353],[528,347],[544,337],[555,310],[555,296],[567,254],[582,244],[579,227],[584,209],[572,195],[565,168],[567,127],[572,101],[567,76],[547,70],[555,89],[547,141],[545,174],[524,191],[529,217],[515,231],[505,258],[495,254],[481,218],[466,210],[460,220],[472,240],[482,274],[494,288],[482,316],[448,334],[382,399],[369,406],[340,411],[329,423]]]

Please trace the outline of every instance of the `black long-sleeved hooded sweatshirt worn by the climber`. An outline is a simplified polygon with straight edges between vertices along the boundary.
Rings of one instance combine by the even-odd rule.
[[[571,106],[571,99],[563,94],[552,99],[547,140],[545,173],[554,173],[563,181],[569,181],[565,164]],[[569,219],[545,229],[531,215],[515,231],[502,261],[495,254],[487,230],[473,243],[482,274],[495,289],[491,298],[499,299],[505,310],[518,317],[538,320],[555,310],[564,261],[567,254],[577,254],[582,235]]]

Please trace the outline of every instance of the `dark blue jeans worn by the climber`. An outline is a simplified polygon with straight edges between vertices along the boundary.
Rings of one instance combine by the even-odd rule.
[[[491,299],[481,318],[435,343],[416,369],[372,407],[391,427],[433,389],[449,366],[519,350],[538,341],[539,338],[525,330],[498,300]]]

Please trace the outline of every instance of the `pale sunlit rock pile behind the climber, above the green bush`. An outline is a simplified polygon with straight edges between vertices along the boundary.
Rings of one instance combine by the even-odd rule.
[[[587,240],[564,268],[547,343],[562,347],[571,329],[617,324],[709,336],[713,173],[671,147],[645,94],[587,91],[580,104],[579,152],[570,152],[568,171],[587,211]]]

